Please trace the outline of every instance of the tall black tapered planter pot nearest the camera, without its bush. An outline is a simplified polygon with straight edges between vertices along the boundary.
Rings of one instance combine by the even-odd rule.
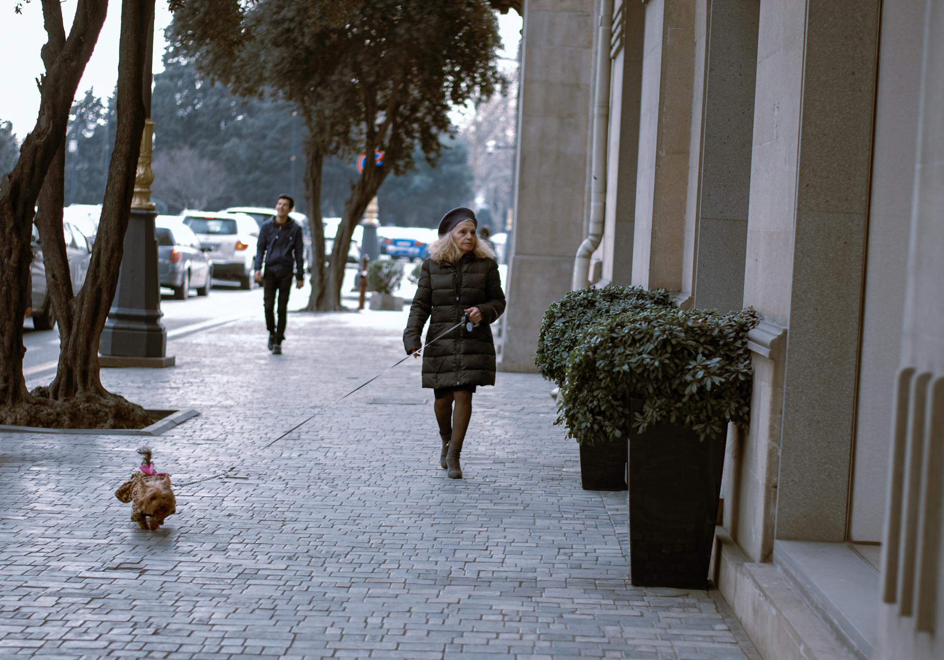
[[[632,414],[642,401],[632,401]],[[678,424],[630,433],[630,578],[704,589],[715,540],[725,436],[700,441]]]

